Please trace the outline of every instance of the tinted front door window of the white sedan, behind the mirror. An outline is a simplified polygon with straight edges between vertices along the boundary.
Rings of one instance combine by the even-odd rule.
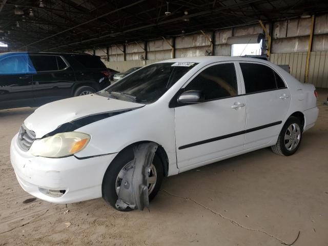
[[[235,65],[225,63],[211,66],[200,72],[185,88],[204,93],[205,100],[238,94]]]

